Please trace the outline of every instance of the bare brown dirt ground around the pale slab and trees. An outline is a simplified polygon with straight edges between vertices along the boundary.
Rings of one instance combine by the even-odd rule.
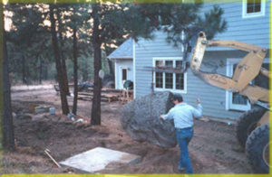
[[[57,161],[97,146],[141,155],[141,163],[109,164],[111,171],[100,173],[178,173],[179,148],[161,148],[133,141],[121,128],[121,102],[102,102],[102,126],[75,124],[60,114],[60,100],[53,89],[12,93],[17,151],[4,154],[4,173],[79,173],[58,168],[44,153],[49,149]],[[73,98],[69,98],[72,106]],[[34,114],[34,107],[56,107],[56,116]],[[90,121],[90,101],[79,100],[78,116]],[[205,107],[204,107],[205,108]],[[195,173],[250,173],[246,154],[235,136],[235,126],[215,121],[195,120],[189,155]]]

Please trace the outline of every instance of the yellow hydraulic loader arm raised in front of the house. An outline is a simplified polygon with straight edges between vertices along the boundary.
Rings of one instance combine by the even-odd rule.
[[[230,47],[241,51],[248,51],[248,54],[238,62],[233,77],[228,78],[216,73],[209,73],[200,70],[206,47],[219,46]],[[262,68],[262,63],[267,55],[267,49],[255,45],[236,41],[208,41],[204,32],[200,32],[197,43],[190,60],[190,69],[204,79],[209,84],[238,92],[240,95],[248,97],[252,104],[258,100],[268,102],[269,90],[251,85],[251,80],[255,79],[258,73],[269,77],[269,71]]]

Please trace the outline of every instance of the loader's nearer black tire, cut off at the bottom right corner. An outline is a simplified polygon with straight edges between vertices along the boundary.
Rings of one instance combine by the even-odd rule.
[[[257,126],[246,144],[248,162],[256,173],[269,173],[269,124]]]

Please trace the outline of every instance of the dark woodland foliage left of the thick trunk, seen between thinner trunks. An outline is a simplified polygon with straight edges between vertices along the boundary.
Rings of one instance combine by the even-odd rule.
[[[77,16],[77,19],[74,15],[65,15],[69,12],[73,12],[72,7],[74,6],[80,8],[80,4],[57,6],[63,25],[62,32],[60,32],[63,34],[63,57],[66,59],[66,62],[69,62],[73,58],[72,39],[69,36],[69,33],[72,33],[73,24],[77,24],[80,28],[83,28],[83,20],[86,21],[86,19],[82,18],[84,13],[80,10],[77,14],[80,14],[81,17]],[[12,14],[10,18],[13,22],[13,28],[7,32],[8,56],[10,61],[9,69],[13,80],[16,82],[24,78],[28,80],[28,83],[34,83],[34,81],[40,79],[40,77],[41,79],[56,79],[50,28],[44,23],[44,21],[49,19],[48,5],[12,4],[6,5],[5,11]],[[81,25],[79,24],[79,19],[82,20]],[[61,23],[57,23],[58,26],[60,26]],[[88,37],[83,31],[83,29],[80,30],[80,32],[82,32],[80,33],[80,37]],[[78,45],[81,49],[81,55],[92,53],[92,46],[90,46],[90,43],[87,43],[86,39],[81,39]],[[89,64],[91,66],[88,67],[92,68],[93,61],[88,62],[86,57],[81,57],[80,60],[85,60],[82,61],[84,63],[83,66]],[[86,67],[85,69],[83,66],[80,67],[79,71],[82,73],[89,73],[86,74],[85,79],[92,79],[92,70],[90,71],[88,70],[89,68]],[[69,65],[69,67],[70,68],[67,70],[73,70],[73,65]],[[81,70],[81,68],[83,70]],[[42,76],[39,76],[40,73]],[[73,72],[70,72],[69,74],[70,78],[73,78]]]

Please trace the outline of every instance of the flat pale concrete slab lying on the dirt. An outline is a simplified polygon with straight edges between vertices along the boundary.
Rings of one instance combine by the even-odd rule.
[[[82,154],[76,154],[60,164],[82,172],[95,173],[107,169],[109,163],[139,163],[141,156],[123,153],[103,147],[96,147]]]

